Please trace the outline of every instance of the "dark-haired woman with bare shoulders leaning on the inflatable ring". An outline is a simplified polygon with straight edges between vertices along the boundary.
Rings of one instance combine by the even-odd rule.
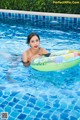
[[[27,44],[30,48],[23,53],[22,61],[24,66],[30,65],[33,59],[42,55],[49,56],[48,51],[40,47],[40,37],[36,33],[31,33],[28,35]]]

